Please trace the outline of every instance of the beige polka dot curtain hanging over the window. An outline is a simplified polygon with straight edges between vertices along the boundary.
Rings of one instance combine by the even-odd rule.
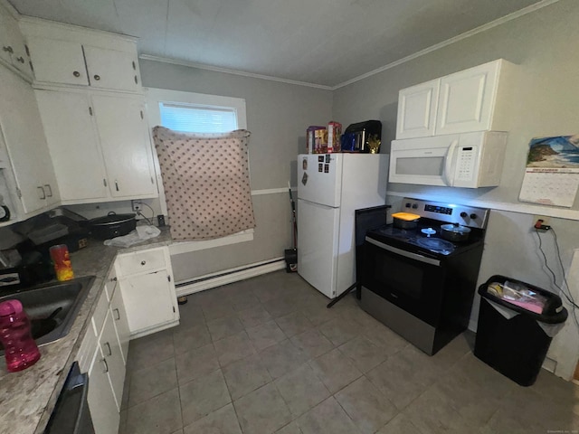
[[[255,227],[250,132],[179,133],[154,127],[173,240],[209,240]]]

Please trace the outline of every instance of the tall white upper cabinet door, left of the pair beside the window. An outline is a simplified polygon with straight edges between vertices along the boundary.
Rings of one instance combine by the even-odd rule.
[[[107,197],[104,163],[85,94],[35,90],[63,203]]]

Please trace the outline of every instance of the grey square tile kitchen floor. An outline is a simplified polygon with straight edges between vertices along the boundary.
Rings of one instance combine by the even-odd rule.
[[[579,432],[574,384],[520,387],[469,334],[429,357],[355,297],[326,304],[285,271],[189,296],[181,325],[130,343],[119,432]]]

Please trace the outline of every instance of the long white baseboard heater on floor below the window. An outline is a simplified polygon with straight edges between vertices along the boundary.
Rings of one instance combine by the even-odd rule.
[[[256,262],[251,265],[227,269],[218,273],[206,274],[199,278],[176,282],[177,297],[187,296],[195,292],[204,291],[205,289],[221,287],[228,283],[237,282],[246,278],[253,278],[261,274],[271,273],[279,269],[285,269],[286,263],[283,258],[274,258]]]

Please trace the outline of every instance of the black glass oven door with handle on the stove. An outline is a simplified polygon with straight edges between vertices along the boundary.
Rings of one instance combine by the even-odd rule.
[[[366,237],[362,286],[425,323],[437,326],[446,270],[440,259]]]

